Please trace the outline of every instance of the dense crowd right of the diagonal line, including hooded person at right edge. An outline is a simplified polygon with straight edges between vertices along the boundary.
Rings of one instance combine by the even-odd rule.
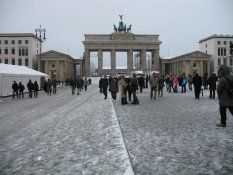
[[[201,77],[198,73],[194,76],[186,76],[183,73],[180,76],[177,75],[159,75],[155,72],[150,76],[139,76],[133,74],[132,77],[126,77],[122,75],[120,77],[109,77],[104,75],[99,80],[100,93],[104,94],[104,99],[107,98],[107,91],[111,93],[113,100],[116,100],[117,92],[120,91],[121,104],[128,104],[128,101],[132,101],[131,104],[139,104],[137,97],[137,91],[142,93],[143,88],[148,88],[150,84],[150,98],[156,99],[156,97],[163,96],[163,89],[166,87],[168,93],[178,93],[178,87],[180,87],[180,93],[186,93],[188,86],[189,91],[194,89],[195,99],[200,99],[200,95],[203,96],[203,90],[209,90],[209,98],[215,99],[216,92],[219,98],[219,111],[221,120],[217,126],[226,126],[226,109],[229,109],[233,115],[233,94],[229,94],[229,89],[232,89],[233,93],[233,76],[230,73],[230,68],[222,66],[221,75],[217,77],[213,72],[210,76],[204,74]],[[219,83],[217,83],[219,81]],[[231,82],[231,83],[230,83]],[[218,85],[217,85],[218,84]],[[120,90],[118,89],[120,88]],[[131,97],[133,96],[133,100]]]

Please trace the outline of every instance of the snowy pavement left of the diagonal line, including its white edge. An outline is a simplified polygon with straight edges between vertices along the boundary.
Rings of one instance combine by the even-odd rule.
[[[0,104],[0,174],[133,174],[111,99],[57,93]]]

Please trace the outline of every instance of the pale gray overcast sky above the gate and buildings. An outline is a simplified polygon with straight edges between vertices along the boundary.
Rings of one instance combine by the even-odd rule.
[[[119,14],[134,34],[160,35],[160,56],[199,49],[212,34],[233,35],[233,0],[0,0],[0,33],[46,28],[44,51],[83,55],[84,34],[110,34]]]

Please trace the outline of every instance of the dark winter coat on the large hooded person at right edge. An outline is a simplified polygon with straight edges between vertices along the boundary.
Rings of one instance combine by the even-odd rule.
[[[233,81],[232,75],[225,75],[230,81]],[[233,98],[228,95],[227,89],[230,88],[229,82],[225,78],[221,77],[217,86],[217,93],[220,106],[233,106]]]

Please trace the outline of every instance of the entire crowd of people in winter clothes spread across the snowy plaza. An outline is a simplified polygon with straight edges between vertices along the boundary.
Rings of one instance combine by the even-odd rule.
[[[203,90],[209,90],[209,98],[215,99],[216,95],[219,99],[219,111],[221,120],[217,126],[226,126],[226,110],[229,109],[233,115],[233,95],[229,94],[229,89],[233,91],[233,76],[231,75],[231,70],[227,66],[221,67],[221,75],[217,77],[215,73],[212,73],[210,76],[204,74],[201,77],[198,73],[194,76],[186,76],[183,73],[180,76],[175,74],[173,75],[159,75],[153,73],[152,75],[147,76],[137,76],[135,73],[132,77],[121,75],[120,77],[107,77],[104,75],[103,78],[99,80],[99,92],[104,94],[104,99],[108,97],[108,91],[111,93],[113,100],[117,99],[117,94],[120,92],[121,104],[139,104],[139,99],[137,97],[138,93],[142,93],[144,88],[150,88],[150,94],[148,95],[150,99],[156,100],[157,97],[163,97],[163,89],[166,87],[168,93],[186,93],[187,87],[189,91],[194,90],[195,99],[200,99],[200,95],[203,95]],[[218,83],[217,83],[218,82]],[[87,91],[88,84],[91,84],[91,79],[87,78],[71,78],[66,80],[66,86],[70,85],[72,95],[76,94],[75,90],[77,89],[77,95],[80,94],[82,89]],[[58,81],[56,79],[44,82],[43,89],[45,93],[49,96],[51,94],[57,93]],[[150,85],[150,86],[149,86]],[[37,98],[39,86],[37,81],[32,82],[29,80],[27,83],[29,98]],[[178,88],[180,87],[180,88]],[[24,85],[16,81],[12,84],[13,99],[15,98],[24,98]]]

